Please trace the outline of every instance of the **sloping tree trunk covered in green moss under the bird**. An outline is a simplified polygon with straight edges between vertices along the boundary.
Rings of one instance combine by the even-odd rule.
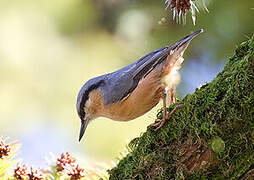
[[[159,131],[148,127],[110,179],[251,179],[254,176],[254,36]],[[175,106],[171,105],[170,112]],[[162,118],[162,112],[157,114]]]

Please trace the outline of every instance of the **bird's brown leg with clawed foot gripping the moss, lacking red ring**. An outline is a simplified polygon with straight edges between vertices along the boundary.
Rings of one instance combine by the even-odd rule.
[[[166,93],[163,93],[162,100],[163,100],[163,117],[162,119],[157,119],[155,124],[152,124],[151,126],[156,127],[155,131],[159,130],[167,120],[170,120],[174,113],[182,108],[184,104],[177,105],[169,114],[167,113],[167,103],[166,103],[167,95]]]

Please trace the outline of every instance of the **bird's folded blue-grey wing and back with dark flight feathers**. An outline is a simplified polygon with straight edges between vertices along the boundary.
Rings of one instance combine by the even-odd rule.
[[[105,75],[101,92],[105,104],[114,104],[127,97],[139,81],[149,74],[168,54],[168,47],[158,49],[118,71]]]

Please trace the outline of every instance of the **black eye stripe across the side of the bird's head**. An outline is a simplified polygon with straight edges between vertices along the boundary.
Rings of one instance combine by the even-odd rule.
[[[85,107],[86,101],[89,98],[90,92],[95,90],[95,89],[97,89],[102,83],[104,83],[103,80],[101,80],[101,81],[99,81],[99,82],[97,82],[95,84],[92,84],[90,87],[87,88],[87,90],[82,95],[80,106],[79,106],[79,112],[78,112],[80,119],[84,119],[84,117],[86,115],[84,107]]]

